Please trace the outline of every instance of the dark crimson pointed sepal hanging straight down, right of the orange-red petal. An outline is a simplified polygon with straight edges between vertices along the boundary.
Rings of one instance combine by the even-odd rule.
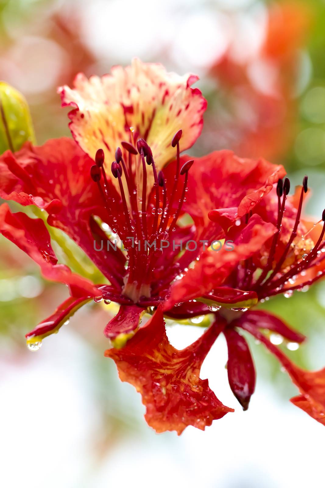
[[[247,410],[255,389],[255,367],[249,345],[233,328],[226,327],[224,334],[228,346],[229,385],[243,410]]]

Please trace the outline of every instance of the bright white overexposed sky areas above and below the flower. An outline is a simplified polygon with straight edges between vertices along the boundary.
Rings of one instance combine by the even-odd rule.
[[[63,8],[72,4],[59,3]],[[234,53],[249,56],[263,38],[263,6],[249,0],[80,0],[75,5],[84,9],[83,34],[101,56],[104,71],[109,70],[110,65],[103,68],[108,60],[127,63],[138,56],[144,61],[164,61],[167,50],[170,68],[203,75],[206,66],[229,46],[234,28],[226,12],[230,7],[238,12],[236,25],[240,26]],[[249,13],[239,11],[243,5],[252,5]],[[218,6],[225,10],[218,13]],[[240,50],[243,39],[245,53]],[[179,345],[182,332],[180,327],[170,331],[173,345]],[[187,342],[198,333],[201,329],[189,329]],[[155,435],[142,420],[139,434],[114,444],[98,463],[93,446],[100,419],[89,370],[92,354],[67,326],[46,339],[37,353],[30,353],[28,361],[0,365],[4,369],[0,380],[1,486],[323,486],[324,427],[280,399],[276,385],[262,379],[258,379],[249,411],[242,412],[227,384],[222,339],[210,351],[201,377],[209,378],[217,397],[234,407],[235,413],[215,421],[205,432],[189,427],[180,438],[171,433]],[[144,408],[139,395],[127,384],[120,390],[122,400],[130,402],[140,418]]]

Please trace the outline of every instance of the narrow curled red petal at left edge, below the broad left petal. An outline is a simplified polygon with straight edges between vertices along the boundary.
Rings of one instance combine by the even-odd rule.
[[[28,254],[41,268],[44,278],[69,286],[75,297],[100,295],[89,280],[72,273],[68,266],[57,264],[50,244],[50,235],[40,219],[31,219],[26,214],[11,213],[9,206],[0,206],[0,233]]]

